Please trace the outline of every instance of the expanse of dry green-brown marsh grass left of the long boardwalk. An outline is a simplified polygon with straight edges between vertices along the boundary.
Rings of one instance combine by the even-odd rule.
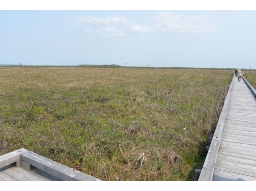
[[[193,179],[232,76],[1,67],[0,154],[26,148],[103,180]]]

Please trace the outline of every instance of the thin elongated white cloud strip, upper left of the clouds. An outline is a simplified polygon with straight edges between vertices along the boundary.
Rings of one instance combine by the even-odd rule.
[[[124,17],[76,17],[75,21],[77,23],[87,23],[92,25],[119,25],[119,24],[125,24],[128,22],[128,20]]]

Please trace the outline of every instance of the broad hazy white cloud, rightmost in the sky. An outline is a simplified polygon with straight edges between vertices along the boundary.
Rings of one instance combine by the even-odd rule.
[[[156,16],[156,29],[163,32],[205,33],[216,31],[210,21],[202,16],[182,16],[171,12],[160,12]]]

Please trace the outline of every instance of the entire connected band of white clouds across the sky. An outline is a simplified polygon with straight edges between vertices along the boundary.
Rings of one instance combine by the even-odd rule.
[[[70,23],[70,19],[67,19]],[[173,33],[207,33],[218,30],[203,16],[184,16],[172,12],[159,12],[152,17],[155,23],[152,26],[137,25],[125,17],[76,17],[73,23],[94,25],[86,28],[85,32],[95,32],[105,37],[125,37],[134,33],[173,32]]]

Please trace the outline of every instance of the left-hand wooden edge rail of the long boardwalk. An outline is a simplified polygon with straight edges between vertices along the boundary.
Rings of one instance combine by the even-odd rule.
[[[212,142],[211,142],[210,148],[208,150],[207,156],[205,158],[204,166],[202,168],[202,171],[200,173],[198,180],[212,180],[213,179],[215,163],[216,163],[218,152],[220,149],[220,141],[221,141],[222,131],[224,128],[224,122],[225,122],[227,111],[228,111],[228,103],[229,103],[229,98],[230,98],[231,90],[233,87],[234,79],[235,79],[235,75],[233,76],[233,79],[229,85],[228,93],[225,98],[225,102],[222,107],[222,111],[220,113],[220,118],[218,120],[215,132],[213,134]]]

